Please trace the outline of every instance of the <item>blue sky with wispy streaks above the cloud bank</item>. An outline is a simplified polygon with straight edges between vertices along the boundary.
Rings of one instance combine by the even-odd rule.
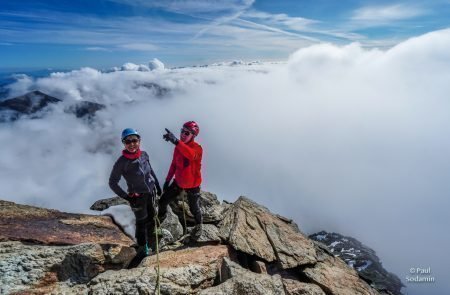
[[[388,48],[448,28],[449,12],[449,0],[3,0],[0,70],[283,60],[318,42]]]

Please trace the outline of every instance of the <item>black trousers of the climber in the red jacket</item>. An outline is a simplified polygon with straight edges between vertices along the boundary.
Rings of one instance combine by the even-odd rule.
[[[159,220],[163,220],[167,212],[167,206],[169,206],[169,203],[175,200],[183,190],[187,193],[189,210],[191,210],[191,213],[194,215],[195,222],[197,224],[203,223],[202,212],[200,210],[200,187],[182,189],[175,181],[172,181],[159,199]]]

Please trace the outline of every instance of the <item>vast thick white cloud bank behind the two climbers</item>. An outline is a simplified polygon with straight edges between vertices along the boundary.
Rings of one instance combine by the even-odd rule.
[[[112,195],[122,129],[140,130],[162,180],[173,150],[164,128],[196,120],[205,190],[230,201],[247,195],[306,233],[353,236],[408,294],[442,294],[450,289],[449,48],[442,30],[387,51],[314,45],[279,64],[23,76],[11,96],[38,88],[64,102],[43,119],[0,125],[0,197],[86,212]],[[89,123],[62,111],[74,100],[107,108]],[[407,284],[412,267],[431,267],[436,282]]]

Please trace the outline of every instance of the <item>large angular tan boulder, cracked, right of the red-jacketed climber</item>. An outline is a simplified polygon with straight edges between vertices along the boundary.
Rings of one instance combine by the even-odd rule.
[[[277,261],[283,269],[317,261],[311,240],[245,197],[240,197],[224,212],[219,234],[234,249],[267,262]]]

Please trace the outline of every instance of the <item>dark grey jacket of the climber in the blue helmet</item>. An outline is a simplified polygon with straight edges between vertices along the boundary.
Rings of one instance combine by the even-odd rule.
[[[128,194],[119,186],[121,177],[124,177],[129,193],[149,193],[159,187],[158,179],[150,165],[150,159],[145,151],[137,159],[128,159],[123,155],[116,161],[109,176],[109,187],[121,198]]]

